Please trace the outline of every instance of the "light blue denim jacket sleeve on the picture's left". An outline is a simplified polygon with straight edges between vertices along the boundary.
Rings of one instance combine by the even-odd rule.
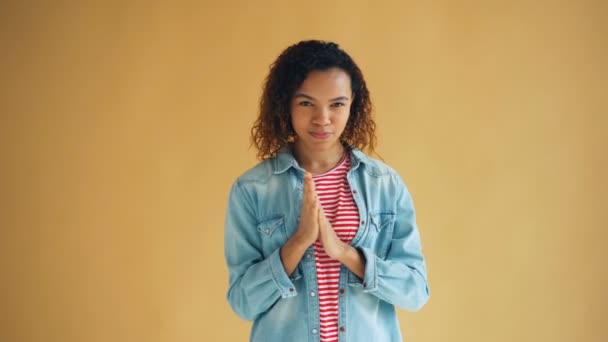
[[[224,254],[228,265],[228,302],[241,318],[254,320],[279,298],[297,295],[281,262],[280,248],[264,258],[253,201],[238,180],[228,200]]]

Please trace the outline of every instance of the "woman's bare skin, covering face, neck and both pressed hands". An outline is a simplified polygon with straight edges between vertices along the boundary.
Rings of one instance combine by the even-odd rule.
[[[352,95],[349,75],[338,68],[310,72],[293,95],[291,122],[297,134],[294,152],[307,172],[298,228],[281,248],[283,267],[289,275],[306,249],[319,239],[327,255],[363,278],[365,258],[338,238],[325,217],[312,179],[312,173],[330,170],[344,155],[340,136],[348,122]]]

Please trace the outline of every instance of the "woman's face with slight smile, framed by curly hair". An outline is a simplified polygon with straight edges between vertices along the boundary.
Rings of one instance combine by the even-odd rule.
[[[315,152],[339,147],[351,104],[350,76],[344,70],[311,71],[291,100],[298,148]]]

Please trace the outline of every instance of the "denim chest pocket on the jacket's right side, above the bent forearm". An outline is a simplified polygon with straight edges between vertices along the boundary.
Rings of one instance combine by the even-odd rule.
[[[395,213],[392,211],[375,211],[369,213],[369,225],[365,240],[361,244],[371,248],[376,255],[385,259],[393,237]]]

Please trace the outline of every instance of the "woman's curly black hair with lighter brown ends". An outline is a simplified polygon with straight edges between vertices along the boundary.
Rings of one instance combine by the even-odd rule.
[[[260,112],[251,129],[251,143],[260,160],[277,155],[295,141],[291,124],[291,99],[311,71],[339,68],[351,80],[353,102],[341,141],[375,152],[376,124],[371,118],[372,103],[365,79],[353,59],[334,42],[306,40],[289,46],[270,65],[260,99]]]

